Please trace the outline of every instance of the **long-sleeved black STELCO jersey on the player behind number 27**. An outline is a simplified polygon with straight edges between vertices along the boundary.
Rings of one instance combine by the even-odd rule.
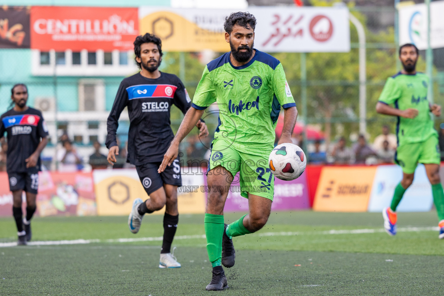
[[[161,162],[171,140],[170,109],[178,107],[183,114],[191,107],[191,99],[182,81],[169,73],[160,73],[157,79],[140,73],[122,80],[107,121],[107,148],[116,146],[119,117],[128,107],[127,162],[140,166],[146,162]]]

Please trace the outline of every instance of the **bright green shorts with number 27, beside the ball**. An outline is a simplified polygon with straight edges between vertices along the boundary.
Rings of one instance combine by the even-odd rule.
[[[273,201],[274,175],[268,166],[268,158],[238,151],[223,139],[215,138],[211,144],[207,175],[223,174],[218,166],[224,167],[233,175],[230,187],[232,192],[240,191],[246,198],[250,193]],[[237,172],[239,178],[236,177]],[[226,176],[228,177],[230,176]]]

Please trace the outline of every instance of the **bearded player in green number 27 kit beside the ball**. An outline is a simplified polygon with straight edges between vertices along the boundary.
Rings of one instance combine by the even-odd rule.
[[[274,193],[274,175],[268,166],[268,157],[274,148],[277,117],[283,107],[285,117],[279,144],[292,142],[291,132],[297,118],[296,103],[282,64],[253,48],[255,26],[256,19],[248,12],[234,12],[226,17],[225,39],[231,51],[206,65],[193,105],[159,167],[161,172],[171,164],[178,154],[180,141],[205,109],[216,102],[219,126],[211,143],[204,220],[213,276],[206,290],[228,287],[222,264],[234,265],[231,237],[254,233],[267,222]],[[223,208],[237,172],[240,172],[241,195],[248,198],[249,213],[225,225]]]

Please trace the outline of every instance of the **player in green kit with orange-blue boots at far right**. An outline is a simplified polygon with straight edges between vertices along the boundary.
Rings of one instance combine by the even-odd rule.
[[[418,48],[404,44],[399,49],[403,70],[389,77],[382,90],[376,111],[396,116],[395,162],[402,167],[403,177],[396,186],[392,204],[382,211],[384,228],[390,235],[396,234],[396,207],[405,190],[412,185],[418,163],[423,163],[427,177],[432,184],[433,201],[438,212],[440,234],[444,238],[444,192],[440,182],[440,150],[438,133],[433,127],[433,115],[441,115],[441,107],[427,100],[429,79],[416,72]],[[393,104],[393,107],[389,105]],[[432,114],[430,114],[432,113]]]

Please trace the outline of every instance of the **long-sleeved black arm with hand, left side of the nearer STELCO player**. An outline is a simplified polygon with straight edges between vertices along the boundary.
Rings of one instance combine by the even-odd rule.
[[[119,155],[119,146],[117,146],[116,132],[119,127],[119,117],[125,106],[128,103],[128,93],[126,90],[126,84],[123,81],[120,83],[119,90],[115,96],[114,104],[112,105],[111,112],[107,120],[107,139],[106,146],[109,149],[107,160],[111,165],[117,162],[115,158]]]

